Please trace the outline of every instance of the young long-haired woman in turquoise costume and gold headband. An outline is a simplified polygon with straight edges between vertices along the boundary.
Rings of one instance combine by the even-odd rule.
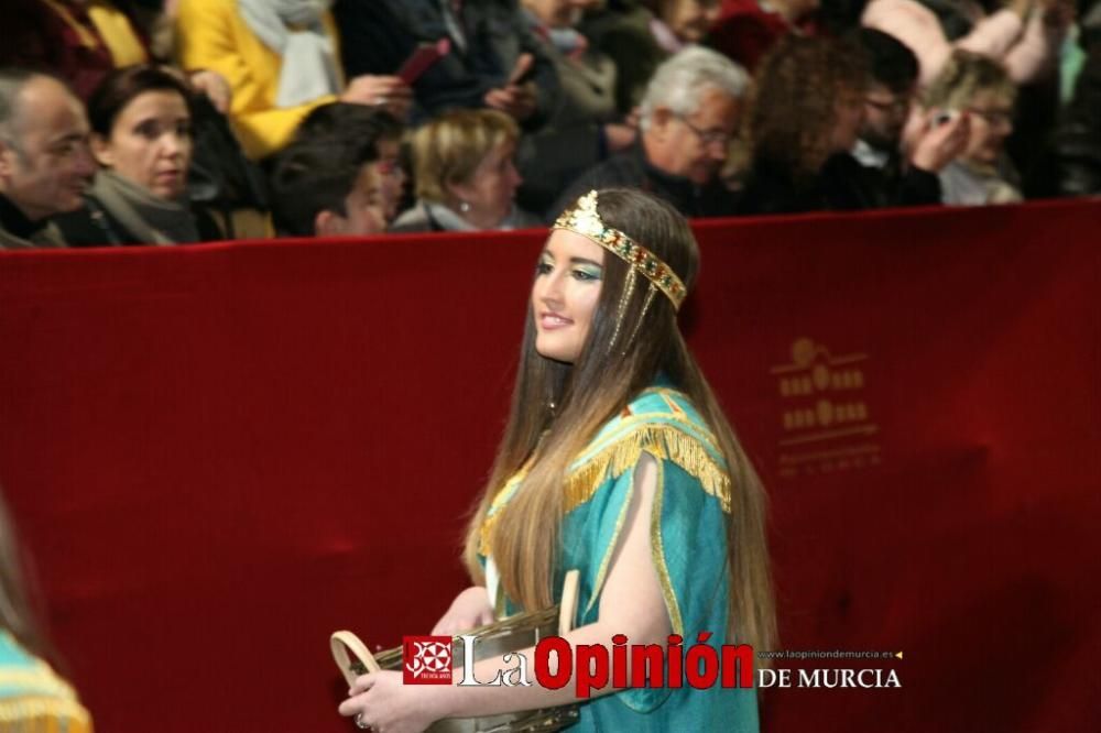
[[[764,493],[676,322],[698,263],[685,219],[640,192],[590,192],[555,222],[468,532],[476,584],[434,634],[550,606],[576,568],[575,648],[611,648],[617,634],[664,646],[676,634],[687,649],[708,632],[717,649],[771,648]],[[480,661],[476,676],[500,667]],[[575,696],[573,685],[403,686],[383,671],[357,679],[340,712],[392,733]],[[580,702],[576,730],[757,730],[754,689],[606,688]]]

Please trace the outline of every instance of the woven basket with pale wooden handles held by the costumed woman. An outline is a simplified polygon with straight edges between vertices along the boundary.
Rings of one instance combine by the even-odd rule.
[[[475,661],[501,658],[509,652],[519,652],[535,646],[547,636],[562,636],[574,627],[577,612],[577,570],[566,573],[563,582],[562,603],[534,611],[519,613],[508,619],[465,632],[475,637]],[[348,685],[368,672],[383,669],[402,671],[402,647],[371,654],[353,633],[338,631],[329,638],[333,658],[340,668]],[[462,639],[451,639],[451,666],[462,667]],[[484,718],[447,718],[433,723],[429,733],[549,733],[559,731],[578,721],[576,704],[558,705],[539,710],[524,710]]]

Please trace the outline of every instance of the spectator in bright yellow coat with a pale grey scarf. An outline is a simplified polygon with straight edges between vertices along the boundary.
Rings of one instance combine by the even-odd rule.
[[[341,100],[404,117],[412,100],[395,76],[345,83],[331,0],[179,0],[176,43],[185,69],[210,69],[232,88],[230,118],[252,158],[285,146],[314,108]]]

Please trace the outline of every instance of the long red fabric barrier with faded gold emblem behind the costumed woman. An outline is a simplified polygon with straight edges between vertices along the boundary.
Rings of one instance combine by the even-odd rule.
[[[712,221],[683,325],[772,495],[770,731],[1101,715],[1101,205]],[[541,232],[0,255],[0,482],[101,731],[345,731],[426,632]],[[797,674],[797,672],[796,672]]]

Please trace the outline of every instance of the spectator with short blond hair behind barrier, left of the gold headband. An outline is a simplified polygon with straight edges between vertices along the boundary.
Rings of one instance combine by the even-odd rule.
[[[483,231],[539,225],[516,208],[520,128],[497,110],[455,110],[413,135],[417,201],[391,231]]]

